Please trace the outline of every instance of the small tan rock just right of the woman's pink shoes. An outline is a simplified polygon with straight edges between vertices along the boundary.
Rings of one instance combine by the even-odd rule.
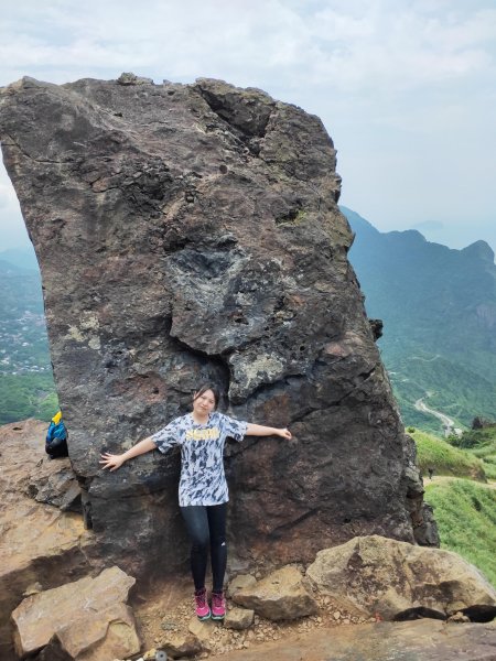
[[[256,585],[237,590],[233,600],[276,621],[314,615],[319,609],[303,584],[301,572],[293,566],[282,567]]]

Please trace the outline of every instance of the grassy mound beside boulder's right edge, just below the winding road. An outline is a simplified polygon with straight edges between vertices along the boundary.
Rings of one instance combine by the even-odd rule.
[[[472,453],[453,447],[446,441],[425,432],[414,431],[410,435],[417,445],[417,465],[422,475],[433,468],[434,475],[485,479],[485,464]]]

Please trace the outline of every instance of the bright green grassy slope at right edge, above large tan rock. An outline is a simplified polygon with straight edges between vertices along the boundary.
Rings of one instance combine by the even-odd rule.
[[[434,508],[441,548],[459,553],[496,585],[496,490],[467,479],[434,478],[425,501]]]

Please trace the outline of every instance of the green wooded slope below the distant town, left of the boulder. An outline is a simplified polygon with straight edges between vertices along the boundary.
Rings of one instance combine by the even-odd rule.
[[[50,421],[58,410],[52,373],[0,373],[0,424],[26,418]]]

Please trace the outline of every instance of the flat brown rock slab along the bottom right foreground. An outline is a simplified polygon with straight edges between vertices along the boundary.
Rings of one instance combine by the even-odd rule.
[[[225,661],[225,654],[209,661]],[[229,652],[229,661],[496,661],[496,628],[439,620],[380,622],[312,631]]]

